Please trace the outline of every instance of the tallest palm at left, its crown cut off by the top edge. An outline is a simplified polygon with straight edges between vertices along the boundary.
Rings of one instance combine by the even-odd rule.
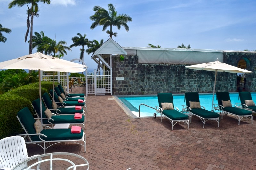
[[[50,4],[51,1],[50,0],[13,0],[9,3],[8,7],[9,9],[14,7],[14,6],[18,6],[18,7],[22,7],[26,4],[31,4],[31,7],[28,7],[27,10],[27,14],[28,14],[28,18],[27,18],[27,32],[25,34],[25,42],[27,41],[28,38],[28,33],[29,33],[29,28],[30,28],[30,36],[29,36],[29,54],[32,54],[32,36],[33,36],[33,20],[34,20],[34,16],[38,17],[39,14],[37,13],[39,11],[38,9],[38,2],[43,2],[44,4]]]

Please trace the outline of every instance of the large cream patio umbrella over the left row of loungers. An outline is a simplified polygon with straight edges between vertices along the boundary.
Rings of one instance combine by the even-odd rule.
[[[22,57],[0,63],[0,69],[29,69],[29,70],[38,69],[41,122],[42,122],[42,94],[41,94],[40,69],[84,68],[84,67],[85,66],[82,64],[70,62],[60,58],[55,58],[40,52],[24,55]]]

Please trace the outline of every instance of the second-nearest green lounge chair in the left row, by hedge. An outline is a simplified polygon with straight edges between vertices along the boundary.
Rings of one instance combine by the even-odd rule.
[[[36,99],[36,100],[32,101],[32,107],[34,108],[37,117],[41,118],[40,100]],[[79,113],[79,114],[81,114],[81,113]],[[52,128],[53,128],[53,124],[62,124],[62,123],[80,124],[84,128],[85,115],[82,114],[81,116],[82,116],[81,119],[75,119],[74,114],[72,114],[72,115],[56,115],[56,114],[52,113],[49,109],[47,109],[44,106],[44,103],[42,102],[43,124],[51,124]]]

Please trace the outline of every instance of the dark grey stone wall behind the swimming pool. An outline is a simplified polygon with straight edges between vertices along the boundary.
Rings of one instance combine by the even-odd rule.
[[[241,59],[241,56],[232,53],[227,53],[224,57],[227,57],[224,62],[235,66],[237,64],[234,63]],[[254,67],[255,64],[252,62]],[[187,65],[139,64],[138,56],[125,56],[124,61],[120,61],[118,56],[112,56],[113,95],[213,92],[215,72],[186,69],[185,66]],[[116,77],[123,77],[124,80],[116,80]],[[237,75],[234,73],[218,72],[216,91],[236,92],[236,79]],[[255,81],[252,83],[255,73],[248,79],[251,83],[247,89],[255,92]]]

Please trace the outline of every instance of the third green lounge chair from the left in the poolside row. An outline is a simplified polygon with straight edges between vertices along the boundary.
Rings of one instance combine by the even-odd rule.
[[[250,118],[252,117],[252,111],[238,108],[236,105],[231,104],[229,92],[216,92],[216,97],[218,100],[218,107],[214,107],[215,109],[219,109],[221,114],[230,114],[236,117],[238,120],[238,124],[240,124],[240,121],[242,118]],[[217,104],[215,104],[216,106]],[[232,107],[232,105],[234,107]],[[252,120],[253,121],[253,120]]]

